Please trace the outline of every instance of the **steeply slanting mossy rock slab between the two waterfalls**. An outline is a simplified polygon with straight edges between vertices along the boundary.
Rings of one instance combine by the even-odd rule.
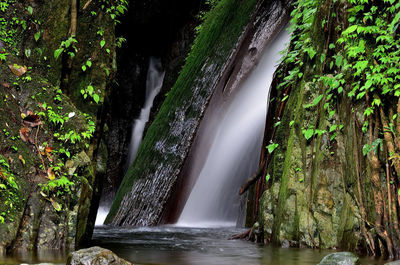
[[[187,196],[180,190],[190,190],[182,168],[194,159],[188,157],[206,109],[218,108],[222,95],[234,92],[274,34],[268,27],[276,23],[275,29],[280,29],[285,17],[284,4],[279,1],[221,1],[209,13],[121,184],[106,223],[157,225],[176,219]]]

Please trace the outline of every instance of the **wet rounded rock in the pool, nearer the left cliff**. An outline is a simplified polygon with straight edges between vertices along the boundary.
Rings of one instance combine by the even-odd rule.
[[[132,263],[121,259],[111,250],[91,247],[72,252],[67,265],[132,265]]]

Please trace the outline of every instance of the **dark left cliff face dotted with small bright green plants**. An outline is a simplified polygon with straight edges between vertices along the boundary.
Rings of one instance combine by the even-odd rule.
[[[93,229],[114,21],[108,4],[77,3],[2,2],[1,254],[74,249]]]

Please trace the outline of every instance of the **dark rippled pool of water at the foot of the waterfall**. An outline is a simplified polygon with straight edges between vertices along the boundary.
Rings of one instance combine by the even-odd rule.
[[[114,251],[135,264],[261,265],[317,264],[332,250],[260,246],[244,240],[228,240],[244,232],[237,228],[96,227],[93,244]],[[384,264],[363,257],[361,264]]]

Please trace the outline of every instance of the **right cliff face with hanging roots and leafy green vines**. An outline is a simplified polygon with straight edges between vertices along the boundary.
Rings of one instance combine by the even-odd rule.
[[[386,14],[390,6],[360,2],[304,1],[294,8],[292,42],[276,73],[264,140],[276,149],[272,155],[265,150],[260,163],[258,190],[265,191],[256,210],[264,240],[396,256],[399,170],[396,160],[388,161],[398,152],[393,139],[399,132],[382,126],[398,124],[397,96],[378,84],[369,90],[375,81],[368,72],[388,67],[392,55],[379,55],[382,64],[368,56],[378,56],[380,34],[397,36],[388,26],[397,20]],[[384,33],[364,32],[364,25],[374,26],[363,21],[361,9],[373,10]],[[360,34],[348,37],[356,29]],[[354,55],[356,46],[361,51]],[[355,66],[360,60],[365,73]],[[393,82],[389,87],[394,80],[386,80]]]

